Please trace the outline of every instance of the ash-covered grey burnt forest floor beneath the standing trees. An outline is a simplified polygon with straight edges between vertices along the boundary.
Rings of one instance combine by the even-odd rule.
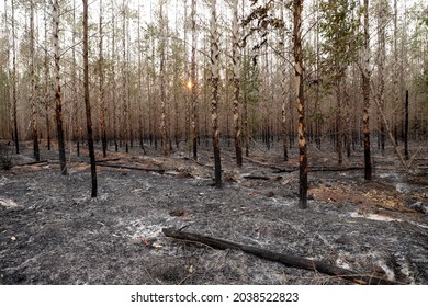
[[[13,168],[0,170],[0,284],[350,284],[166,237],[169,227],[428,284],[427,147],[409,170],[398,168],[392,148],[387,157],[375,151],[371,181],[362,152],[339,167],[334,150],[311,147],[302,211],[296,148],[283,162],[279,145],[257,144],[238,169],[224,146],[221,190],[204,145],[198,161],[180,150],[164,158],[149,146],[147,155],[113,148],[106,159],[98,151],[99,196],[91,198],[86,150],[68,150],[69,174],[60,175],[57,152],[42,146],[43,162],[30,163],[31,144],[22,143]]]

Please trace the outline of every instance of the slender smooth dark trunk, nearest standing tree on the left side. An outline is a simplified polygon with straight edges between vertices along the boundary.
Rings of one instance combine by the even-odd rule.
[[[89,60],[88,60],[88,0],[83,1],[83,94],[85,94],[85,107],[87,115],[87,129],[88,129],[88,150],[91,161],[91,179],[92,179],[92,192],[91,197],[97,197],[97,161],[95,151],[93,148],[93,133],[92,133],[92,118],[91,118],[91,105],[89,102]]]

